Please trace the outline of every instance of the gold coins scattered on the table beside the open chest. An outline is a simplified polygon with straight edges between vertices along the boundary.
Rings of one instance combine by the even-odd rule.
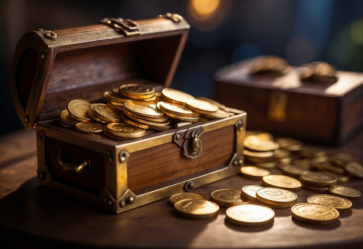
[[[363,167],[349,154],[330,158],[316,147],[305,147],[290,138],[274,139],[267,132],[246,131],[244,140],[246,165],[241,175],[259,180],[260,185],[241,189],[219,189],[206,200],[199,193],[179,193],[170,197],[176,211],[194,219],[218,215],[225,207],[226,220],[242,226],[262,226],[272,223],[276,208],[291,208],[295,220],[315,225],[335,223],[339,213],[351,212],[352,202],[361,193],[338,182],[350,177],[363,178]],[[270,174],[270,169],[281,170]],[[298,203],[298,192],[306,188],[321,194]]]

